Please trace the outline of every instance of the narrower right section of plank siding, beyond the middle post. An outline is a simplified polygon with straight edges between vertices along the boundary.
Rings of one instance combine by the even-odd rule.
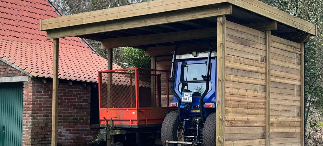
[[[271,36],[270,143],[301,145],[301,44]]]

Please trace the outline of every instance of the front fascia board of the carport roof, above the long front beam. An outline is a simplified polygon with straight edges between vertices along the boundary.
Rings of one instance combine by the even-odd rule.
[[[224,2],[227,2],[227,0],[155,0],[151,2],[41,20],[41,30],[163,13]]]

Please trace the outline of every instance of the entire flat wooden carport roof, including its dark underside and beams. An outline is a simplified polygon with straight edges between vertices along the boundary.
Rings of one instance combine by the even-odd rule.
[[[192,41],[214,42],[216,36],[212,34],[201,38],[190,33],[213,31],[217,16],[221,15],[225,15],[228,21],[245,26],[274,22],[274,35],[296,42],[305,41],[308,34],[317,34],[316,25],[258,0],[155,0],[41,20],[41,30],[47,31],[47,39],[78,36],[102,41],[105,48],[128,46],[147,49]],[[149,42],[149,38],[159,38],[159,34],[170,34],[170,37],[159,39],[165,41],[156,39],[151,44],[119,42],[131,37]],[[178,34],[192,37],[176,39]]]

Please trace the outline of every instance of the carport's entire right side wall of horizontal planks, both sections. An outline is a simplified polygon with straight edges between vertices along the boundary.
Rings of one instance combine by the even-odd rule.
[[[266,100],[266,33],[226,21],[225,145],[266,145],[266,101],[270,145],[301,145],[301,44],[270,39]]]

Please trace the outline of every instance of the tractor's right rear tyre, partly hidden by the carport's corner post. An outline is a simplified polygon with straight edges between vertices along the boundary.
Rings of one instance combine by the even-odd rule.
[[[215,146],[216,144],[216,112],[211,113],[205,120],[203,144],[204,146]]]

